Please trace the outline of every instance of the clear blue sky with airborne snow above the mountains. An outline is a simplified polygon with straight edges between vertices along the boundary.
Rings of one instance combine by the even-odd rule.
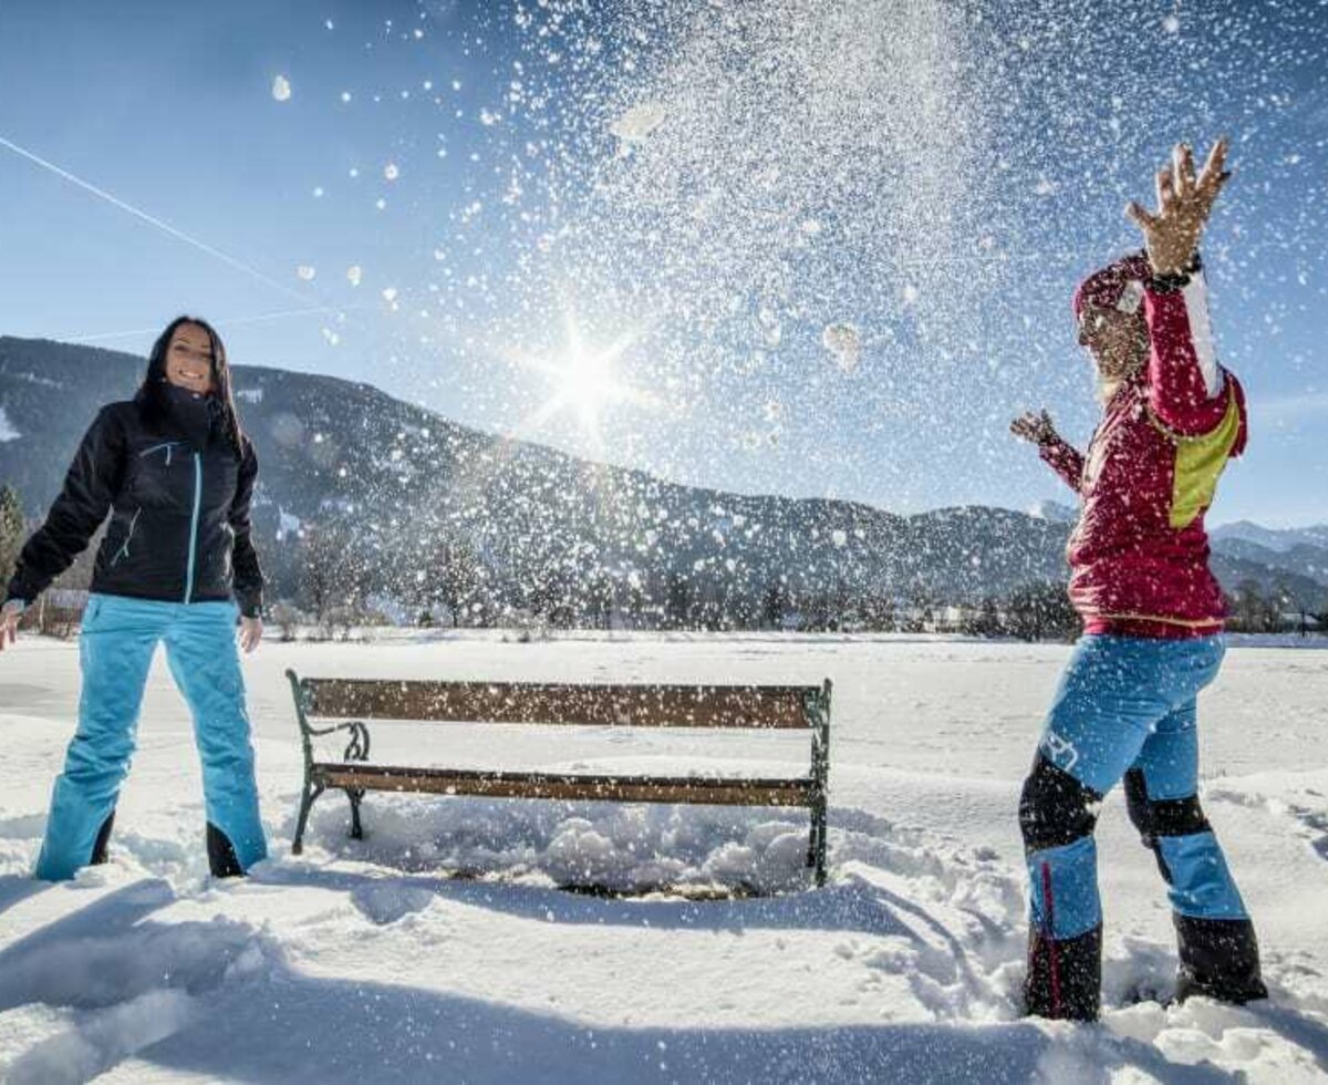
[[[238,364],[688,483],[1027,507],[1069,494],[1009,417],[1096,414],[1069,291],[1219,133],[1252,442],[1211,518],[1328,521],[1317,0],[9,0],[0,333],[142,353],[191,311]],[[571,327],[632,389],[592,418],[548,409]]]

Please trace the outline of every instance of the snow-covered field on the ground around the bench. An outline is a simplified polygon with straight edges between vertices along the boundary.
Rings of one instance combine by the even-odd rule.
[[[1201,701],[1202,795],[1258,924],[1268,1004],[1163,1008],[1153,857],[1101,826],[1104,1020],[1021,1021],[1019,782],[1064,645],[493,635],[279,644],[246,663],[272,858],[211,883],[197,756],[158,659],[109,865],[28,880],[77,703],[73,644],[0,657],[0,1078],[81,1081],[1328,1080],[1328,652],[1232,649]],[[570,681],[834,680],[830,884],[806,815],[328,794],[290,855],[283,671]],[[801,736],[374,730],[376,760],[801,772]],[[668,883],[591,896],[568,883]],[[762,895],[705,899],[720,887]],[[1137,993],[1133,996],[1137,997]]]

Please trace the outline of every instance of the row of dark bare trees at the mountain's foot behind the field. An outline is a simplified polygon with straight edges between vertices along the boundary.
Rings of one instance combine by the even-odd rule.
[[[19,495],[0,489],[0,576],[8,580],[25,522]],[[77,624],[81,592],[92,579],[93,544],[60,578],[28,619],[66,633]],[[916,586],[900,594],[847,583],[793,587],[788,575],[757,579],[708,566],[614,570],[591,555],[570,554],[543,568],[509,574],[463,537],[440,534],[428,552],[392,554],[344,525],[303,526],[263,547],[268,614],[292,629],[313,626],[332,636],[367,624],[676,631],[795,629],[805,632],[961,633],[1020,640],[1069,640],[1080,619],[1064,582],[1033,580],[979,603],[947,599]],[[1242,582],[1228,595],[1228,628],[1240,632],[1313,632],[1328,615],[1299,610],[1289,591]]]

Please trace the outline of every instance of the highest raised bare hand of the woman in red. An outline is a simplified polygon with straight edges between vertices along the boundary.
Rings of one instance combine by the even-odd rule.
[[[1158,207],[1149,211],[1137,202],[1125,209],[1143,232],[1154,275],[1178,275],[1199,251],[1199,235],[1212,212],[1212,205],[1231,174],[1224,169],[1227,141],[1218,139],[1198,177],[1194,151],[1177,143],[1171,163],[1158,170]]]

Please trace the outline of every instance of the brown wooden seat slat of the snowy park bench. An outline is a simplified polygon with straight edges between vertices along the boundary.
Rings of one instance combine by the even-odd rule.
[[[810,778],[591,776],[534,772],[416,769],[392,765],[312,765],[325,788],[367,792],[426,792],[491,798],[604,799],[612,802],[680,802],[714,806],[807,806]]]

